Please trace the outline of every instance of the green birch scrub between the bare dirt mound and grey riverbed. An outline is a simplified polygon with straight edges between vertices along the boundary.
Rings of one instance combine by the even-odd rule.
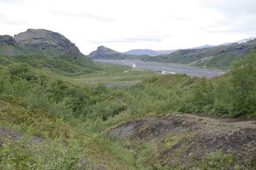
[[[255,53],[235,63],[229,74],[199,79],[170,74],[146,79],[129,89],[113,87],[111,93],[124,98],[134,114],[216,113],[233,117],[256,112]]]

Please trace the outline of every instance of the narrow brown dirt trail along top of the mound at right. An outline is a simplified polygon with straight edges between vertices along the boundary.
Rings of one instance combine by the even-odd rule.
[[[198,122],[206,120],[208,123],[235,125],[241,128],[256,128],[256,120],[244,120],[241,118],[213,118],[209,116],[193,115],[188,113],[181,113],[181,115],[185,116],[188,119],[196,120]]]

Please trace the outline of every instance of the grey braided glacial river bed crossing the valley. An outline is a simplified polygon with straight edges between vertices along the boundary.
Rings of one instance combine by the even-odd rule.
[[[220,69],[199,69],[183,64],[161,63],[161,62],[142,62],[139,60],[94,60],[97,62],[105,62],[112,64],[122,64],[134,68],[154,69],[161,71],[162,74],[188,74],[196,77],[214,77],[216,75],[224,74]]]

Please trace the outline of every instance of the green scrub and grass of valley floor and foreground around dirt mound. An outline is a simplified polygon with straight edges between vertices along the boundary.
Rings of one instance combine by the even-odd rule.
[[[118,142],[105,132],[142,115],[178,111],[238,117],[256,113],[253,51],[236,62],[229,74],[212,79],[161,76],[68,55],[15,55],[0,60],[0,127],[16,134],[16,138],[1,140],[1,169],[168,169],[152,154],[157,152],[156,143]],[[88,85],[138,81],[134,86]],[[181,127],[186,125],[181,123]],[[196,134],[169,135],[162,146],[174,147]],[[186,149],[188,145],[175,156],[181,157]],[[219,169],[230,164],[234,164],[232,155],[219,150],[205,153],[201,164],[194,167]]]

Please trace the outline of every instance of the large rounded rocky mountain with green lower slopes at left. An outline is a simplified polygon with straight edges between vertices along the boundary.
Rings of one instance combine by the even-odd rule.
[[[28,29],[14,38],[1,35],[0,55],[1,64],[27,62],[58,73],[79,74],[97,69],[73,42],[50,30]]]

